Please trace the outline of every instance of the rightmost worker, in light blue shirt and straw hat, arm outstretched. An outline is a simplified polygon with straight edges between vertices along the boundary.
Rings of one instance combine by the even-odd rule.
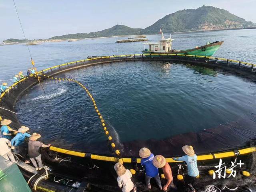
[[[180,158],[173,158],[175,161],[185,161],[188,167],[188,175],[184,178],[185,183],[187,184],[190,191],[195,192],[194,189],[194,180],[199,175],[197,168],[197,156],[194,152],[192,146],[185,145],[182,147],[182,150],[186,154]]]

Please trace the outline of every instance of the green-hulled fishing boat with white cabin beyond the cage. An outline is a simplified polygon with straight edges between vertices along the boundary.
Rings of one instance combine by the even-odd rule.
[[[146,42],[144,45],[148,45],[149,48],[142,50],[143,54],[182,54],[182,55],[197,55],[197,56],[212,56],[224,41],[207,42],[206,45],[196,46],[192,49],[175,50],[172,49],[172,38],[164,38],[164,34],[160,29],[162,38],[158,42]]]

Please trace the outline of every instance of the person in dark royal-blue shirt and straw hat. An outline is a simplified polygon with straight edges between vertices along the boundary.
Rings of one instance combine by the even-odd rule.
[[[158,168],[153,165],[154,154],[150,152],[148,148],[141,148],[139,151],[141,157],[140,164],[145,169],[145,182],[146,186],[151,189],[150,179],[154,177],[160,190],[162,190],[162,184],[158,173]]]

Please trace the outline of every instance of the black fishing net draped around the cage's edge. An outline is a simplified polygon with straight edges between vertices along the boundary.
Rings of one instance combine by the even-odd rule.
[[[60,73],[68,69],[60,68],[49,72],[47,75]],[[64,76],[64,74],[58,74]],[[42,81],[44,78],[42,77]],[[24,93],[25,90],[38,83],[38,79],[30,77],[24,82],[18,84],[7,93],[1,100],[0,106],[4,109],[0,110],[0,116],[12,120],[12,128],[18,129],[21,124],[14,113],[15,104],[18,98]],[[225,125],[220,125],[217,128],[203,130],[197,133],[186,133],[174,136],[172,138],[166,138],[165,140],[147,140],[147,141],[133,141],[124,142],[115,140],[119,145],[122,157],[138,157],[139,149],[143,147],[150,148],[154,154],[163,154],[164,156],[180,156],[183,155],[181,151],[182,146],[190,144],[194,146],[197,154],[207,152],[219,152],[224,150],[230,150],[242,146],[255,146],[255,142],[246,142],[256,138],[255,118],[247,119],[240,118],[236,122],[230,122]],[[111,131],[111,125],[109,125]],[[114,128],[113,128],[114,129]],[[114,131],[114,130],[113,130]],[[107,142],[107,141],[106,141]],[[100,143],[100,145],[106,145]],[[79,182],[86,181],[89,184],[88,190],[91,191],[120,191],[116,182],[116,173],[114,172],[114,162],[102,162],[98,160],[91,160],[88,158],[79,158],[74,156],[68,156],[64,154],[58,154],[50,151],[49,149],[41,149],[42,158],[44,163],[51,167],[52,172],[55,176],[60,178],[72,178]],[[111,151],[111,150],[110,150]],[[109,151],[99,151],[100,154],[111,154]],[[26,154],[24,155],[26,158]],[[236,167],[236,177],[232,176],[226,179],[213,179],[208,174],[209,170],[216,170],[214,166],[218,165],[218,162],[198,162],[198,168],[200,171],[200,178],[195,180],[195,188],[201,192],[214,192],[218,191],[230,191],[229,189],[235,189],[237,191],[256,191],[255,180],[256,180],[256,165],[255,165],[255,152],[252,152],[249,156],[238,156],[238,160],[242,160],[244,166],[242,168]],[[233,160],[234,161],[234,160]],[[207,164],[207,165],[206,165]],[[230,166],[230,159],[226,161],[226,164]],[[176,179],[178,170],[180,174],[186,177],[186,165],[181,164],[184,170],[179,170],[178,164],[171,164],[172,172],[174,177],[174,184],[178,186],[178,191],[186,191],[184,188],[184,182]],[[140,164],[124,164],[126,168],[134,168],[136,174],[132,177],[132,181],[136,183],[138,191],[148,191],[144,184],[144,172],[140,167]],[[249,177],[241,174],[242,170],[246,170],[251,173]],[[162,184],[166,181],[162,180]],[[55,182],[53,180],[53,182]],[[66,185],[69,186],[69,185]],[[228,189],[229,188],[229,189]],[[156,187],[156,183],[152,180],[152,189],[150,191],[159,191]]]

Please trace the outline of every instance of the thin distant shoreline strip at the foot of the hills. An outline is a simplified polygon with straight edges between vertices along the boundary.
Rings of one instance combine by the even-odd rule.
[[[191,32],[209,32],[209,31],[224,31],[224,30],[242,30],[242,29],[256,29],[255,27],[246,27],[246,28],[232,28],[232,29],[213,29],[213,30],[194,30],[194,31],[184,31],[184,32],[172,32],[171,34],[181,34],[181,33],[191,33]],[[168,34],[168,33],[164,33]],[[34,42],[61,42],[61,41],[69,41],[69,40],[86,40],[86,39],[100,39],[100,38],[112,38],[112,37],[127,37],[127,36],[136,36],[135,35],[118,35],[118,36],[106,36],[106,37],[90,37],[90,38],[74,38],[74,39],[44,39],[44,40],[35,40]],[[141,34],[140,34],[141,35]],[[143,35],[156,35],[156,34],[143,34]],[[31,41],[33,42],[33,41]],[[30,43],[31,43],[30,42]],[[24,42],[22,42],[24,43]],[[0,45],[12,45],[12,44],[22,44],[20,42],[10,42],[10,43],[3,43]]]

